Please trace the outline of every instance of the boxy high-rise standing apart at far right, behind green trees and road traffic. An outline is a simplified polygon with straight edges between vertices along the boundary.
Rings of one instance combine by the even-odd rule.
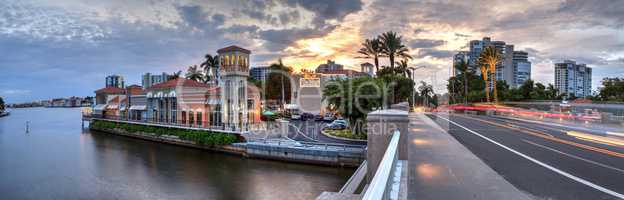
[[[592,68],[575,61],[555,63],[555,88],[558,95],[586,97],[591,95]]]

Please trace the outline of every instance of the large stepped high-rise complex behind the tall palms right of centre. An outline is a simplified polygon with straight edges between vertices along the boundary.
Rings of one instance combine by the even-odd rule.
[[[503,41],[492,41],[489,37],[483,40],[472,40],[468,43],[468,51],[460,51],[453,57],[453,65],[461,60],[468,62],[468,69],[481,74],[479,70],[479,56],[487,46],[494,46],[501,53],[501,61],[496,65],[496,80],[505,81],[510,87],[519,87],[518,83],[531,77],[531,62],[528,61],[528,53],[514,51],[514,45]],[[516,59],[514,59],[516,56]],[[458,74],[457,69],[453,70],[453,75]]]

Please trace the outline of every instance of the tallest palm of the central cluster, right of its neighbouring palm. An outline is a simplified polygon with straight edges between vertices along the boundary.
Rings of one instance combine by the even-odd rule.
[[[389,31],[379,36],[381,41],[382,53],[388,56],[390,59],[390,68],[394,69],[394,58],[412,59],[412,56],[407,54],[409,51],[405,45],[402,44],[401,36],[398,36],[395,32]]]

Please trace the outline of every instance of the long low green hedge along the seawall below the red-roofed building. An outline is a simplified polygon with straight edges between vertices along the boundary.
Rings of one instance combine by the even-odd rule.
[[[195,141],[197,144],[206,146],[220,146],[227,145],[237,141],[234,134],[216,133],[210,131],[200,130],[188,130],[180,128],[167,128],[157,126],[146,126],[138,124],[117,123],[109,121],[93,121],[90,127],[95,130],[112,130],[121,129],[129,133],[153,133],[158,136],[161,135],[174,135],[178,136],[182,140]]]

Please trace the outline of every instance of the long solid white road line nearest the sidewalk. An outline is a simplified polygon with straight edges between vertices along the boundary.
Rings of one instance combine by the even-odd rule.
[[[553,166],[550,166],[550,165],[548,165],[548,164],[546,164],[546,163],[543,163],[543,162],[541,162],[541,161],[539,161],[539,160],[537,160],[537,159],[535,159],[535,158],[532,158],[532,157],[530,157],[530,156],[527,156],[527,155],[525,155],[525,154],[523,154],[523,153],[520,153],[519,151],[516,151],[516,150],[514,150],[514,149],[512,149],[512,148],[510,148],[510,147],[507,147],[507,146],[505,146],[505,145],[503,145],[503,144],[501,144],[501,143],[498,143],[498,142],[496,142],[496,141],[494,141],[494,140],[492,140],[492,139],[490,139],[490,138],[488,138],[488,137],[485,137],[485,136],[483,136],[483,135],[481,135],[481,134],[479,134],[479,133],[477,133],[477,132],[475,132],[475,131],[472,131],[472,130],[470,130],[470,129],[468,129],[468,128],[466,128],[466,127],[464,127],[464,126],[462,126],[462,125],[460,125],[460,124],[458,124],[458,123],[455,123],[454,121],[451,121],[451,120],[449,120],[449,119],[447,119],[447,118],[444,118],[444,117],[441,117],[441,116],[438,116],[438,117],[440,117],[440,118],[442,118],[442,119],[444,119],[444,120],[448,121],[449,123],[454,124],[454,125],[456,125],[456,126],[458,126],[458,127],[460,127],[460,128],[463,128],[463,129],[465,129],[466,131],[468,131],[468,132],[470,132],[470,133],[472,133],[472,134],[474,134],[474,135],[476,135],[476,136],[479,136],[479,137],[483,138],[484,140],[487,140],[487,141],[489,141],[489,142],[491,142],[491,143],[493,143],[493,144],[495,144],[495,145],[497,145],[497,146],[499,146],[499,147],[501,147],[501,148],[503,148],[503,149],[506,149],[506,150],[508,150],[508,151],[511,151],[512,153],[514,153],[514,154],[516,154],[516,155],[518,155],[518,156],[520,156],[520,157],[523,157],[523,158],[525,158],[525,159],[527,159],[527,160],[529,160],[529,161],[531,161],[531,162],[533,162],[533,163],[535,163],[535,164],[538,164],[538,165],[540,165],[540,166],[542,166],[542,167],[545,167],[546,169],[549,169],[549,170],[551,170],[551,171],[553,171],[553,172],[555,172],[555,173],[558,173],[558,174],[560,174],[560,175],[562,175],[562,176],[565,176],[565,177],[567,177],[567,178],[569,178],[569,179],[572,179],[572,180],[574,180],[574,181],[576,181],[576,182],[579,182],[579,183],[581,183],[581,184],[583,184],[583,185],[589,186],[589,187],[594,188],[594,189],[596,189],[596,190],[599,190],[599,191],[601,191],[601,192],[607,193],[607,194],[609,194],[609,195],[615,196],[615,197],[620,198],[620,199],[624,199],[624,195],[622,195],[622,194],[620,194],[620,193],[617,193],[617,192],[615,192],[615,191],[609,190],[609,189],[607,189],[607,188],[605,188],[605,187],[602,187],[602,186],[600,186],[600,185],[596,185],[596,184],[594,184],[594,183],[592,183],[592,182],[589,182],[589,181],[587,181],[587,180],[585,180],[585,179],[582,179],[582,178],[576,177],[576,176],[574,176],[574,175],[572,175],[572,174],[570,174],[570,173],[568,173],[568,172],[565,172],[565,171],[563,171],[563,170],[560,170],[560,169],[557,169],[557,168],[555,168],[555,167],[553,167]]]

